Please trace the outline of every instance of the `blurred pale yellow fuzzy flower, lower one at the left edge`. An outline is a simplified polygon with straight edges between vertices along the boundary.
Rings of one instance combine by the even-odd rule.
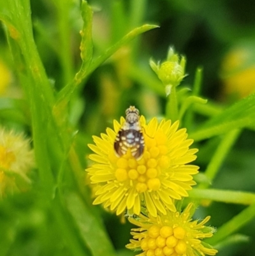
[[[29,183],[27,172],[34,167],[30,141],[22,133],[0,128],[0,197]]]

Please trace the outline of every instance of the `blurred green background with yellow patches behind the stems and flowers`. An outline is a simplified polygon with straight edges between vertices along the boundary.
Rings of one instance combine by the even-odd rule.
[[[87,143],[92,135],[112,127],[129,105],[136,105],[148,119],[163,116],[166,104],[164,90],[150,70],[149,59],[164,60],[168,47],[187,58],[182,87],[192,89],[198,66],[203,67],[201,96],[208,98],[216,109],[222,109],[252,93],[255,88],[255,3],[251,0],[101,0],[88,1],[94,11],[94,54],[119,40],[131,29],[142,24],[157,24],[153,29],[122,47],[82,83],[71,101],[69,121],[79,130],[77,139],[80,159],[86,166],[90,152]],[[45,70],[59,91],[71,81],[80,66],[80,34],[82,18],[80,1],[31,0],[34,38]],[[69,40],[66,40],[68,38]],[[0,87],[2,97],[22,95],[15,74],[4,29],[0,30]],[[4,80],[5,79],[5,80]],[[5,81],[5,82],[4,82]],[[3,85],[2,85],[2,84]],[[1,124],[18,130],[29,128],[15,117],[11,120],[1,112]],[[207,117],[196,116],[197,125]],[[20,121],[20,122],[19,122]],[[190,128],[192,130],[192,127]],[[189,132],[189,128],[188,128]],[[219,144],[219,138],[202,141],[197,165],[205,170]],[[244,130],[228,154],[212,188],[255,192],[255,136]],[[38,179],[36,172],[31,179]],[[85,182],[84,182],[85,183]],[[34,186],[30,192],[11,195],[0,201],[0,256],[74,255],[69,250],[68,236],[62,236],[48,202],[37,200]],[[91,206],[94,207],[94,206]],[[200,207],[197,218],[211,215],[211,225],[220,227],[244,209],[243,206],[213,202]],[[94,207],[102,217],[118,255],[134,255],[124,250],[130,238],[131,225],[119,222],[116,216]],[[69,218],[66,213],[66,218]],[[69,220],[72,222],[73,220]],[[222,248],[219,256],[254,256],[255,221],[238,232],[249,241]],[[69,230],[77,234],[75,223]],[[70,233],[70,236],[72,233]],[[96,237],[95,237],[96,239]],[[84,255],[89,251],[84,247]]]

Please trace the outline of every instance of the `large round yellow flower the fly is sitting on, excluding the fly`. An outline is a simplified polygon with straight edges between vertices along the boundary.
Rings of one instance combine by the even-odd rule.
[[[186,129],[178,129],[179,122],[163,119],[158,123],[152,119],[146,124],[140,117],[145,147],[142,158],[136,159],[131,151],[117,156],[113,144],[120,127],[124,123],[113,121],[114,130],[107,128],[101,138],[94,136],[94,151],[89,158],[95,163],[87,169],[91,183],[96,190],[93,204],[103,204],[116,211],[117,215],[128,209],[139,215],[141,207],[146,207],[150,215],[166,214],[166,209],[176,211],[175,200],[187,197],[187,190],[196,184],[193,175],[198,167],[189,165],[198,150],[189,149],[193,143],[187,139]]]

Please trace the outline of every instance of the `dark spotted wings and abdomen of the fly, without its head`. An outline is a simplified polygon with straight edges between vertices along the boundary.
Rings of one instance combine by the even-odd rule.
[[[140,130],[123,130],[120,129],[114,142],[114,150],[118,156],[126,154],[128,149],[131,154],[137,159],[143,154],[144,138]]]

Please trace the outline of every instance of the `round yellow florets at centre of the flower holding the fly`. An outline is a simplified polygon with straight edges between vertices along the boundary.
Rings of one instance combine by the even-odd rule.
[[[128,152],[117,160],[115,177],[117,181],[130,181],[138,193],[147,190],[156,191],[161,187],[161,172],[170,167],[170,158],[167,156],[166,135],[158,129],[154,138],[145,133],[145,149],[140,160],[136,160]]]

